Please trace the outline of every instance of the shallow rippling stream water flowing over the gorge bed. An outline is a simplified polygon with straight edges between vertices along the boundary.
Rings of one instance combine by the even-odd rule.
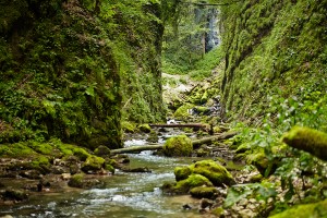
[[[161,140],[162,142],[162,140]],[[125,142],[125,146],[145,144],[143,140]],[[190,165],[195,158],[168,158],[152,152],[131,154],[130,167],[147,167],[150,173],[117,170],[104,179],[101,189],[66,187],[63,193],[31,196],[24,204],[0,208],[0,217],[201,217],[197,207],[185,210],[183,205],[196,205],[189,195],[169,196],[160,191],[166,181],[174,181],[173,169]]]

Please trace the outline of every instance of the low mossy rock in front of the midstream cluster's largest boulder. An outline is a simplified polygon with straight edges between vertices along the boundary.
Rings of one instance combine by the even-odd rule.
[[[177,182],[172,190],[174,193],[187,193],[191,189],[203,185],[213,186],[213,183],[201,174],[191,174],[187,179]]]

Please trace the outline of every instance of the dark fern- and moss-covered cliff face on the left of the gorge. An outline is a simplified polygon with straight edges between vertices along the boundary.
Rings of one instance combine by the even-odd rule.
[[[152,1],[1,0],[0,143],[55,136],[116,148],[122,106],[126,119],[162,119],[160,10]]]

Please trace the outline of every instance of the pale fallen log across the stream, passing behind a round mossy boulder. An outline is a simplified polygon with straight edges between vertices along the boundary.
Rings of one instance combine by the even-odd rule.
[[[203,144],[213,143],[215,141],[227,140],[227,138],[233,137],[237,134],[238,134],[238,132],[227,132],[227,133],[222,133],[220,135],[215,135],[215,136],[210,136],[210,137],[192,141],[193,149],[198,148],[199,145],[203,145]],[[162,148],[164,148],[164,145],[158,145],[158,144],[141,145],[141,146],[124,147],[124,148],[120,148],[120,149],[112,149],[110,152],[110,154],[117,155],[117,154],[123,154],[123,153],[141,153],[143,150],[156,150],[156,149],[162,149]]]

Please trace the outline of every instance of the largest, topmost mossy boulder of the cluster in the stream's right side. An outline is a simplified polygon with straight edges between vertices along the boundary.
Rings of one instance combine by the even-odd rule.
[[[234,184],[234,179],[230,172],[221,165],[214,160],[201,160],[190,166],[192,173],[197,173],[206,177],[216,186],[222,184]]]

